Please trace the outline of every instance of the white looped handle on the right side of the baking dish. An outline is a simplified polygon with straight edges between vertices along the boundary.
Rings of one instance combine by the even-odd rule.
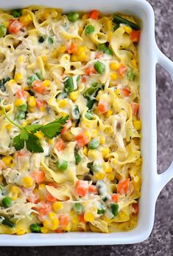
[[[158,46],[156,46],[156,53],[157,53],[157,63],[160,64],[161,67],[163,67],[164,70],[166,70],[169,75],[172,77],[172,83],[173,83],[173,61],[171,61],[169,58],[164,55]],[[165,172],[162,174],[157,175],[156,182],[156,191],[157,195],[159,195],[160,191],[163,189],[164,186],[166,186],[166,183],[168,183],[173,178],[173,161],[172,164],[169,166],[168,169],[166,169]]]

